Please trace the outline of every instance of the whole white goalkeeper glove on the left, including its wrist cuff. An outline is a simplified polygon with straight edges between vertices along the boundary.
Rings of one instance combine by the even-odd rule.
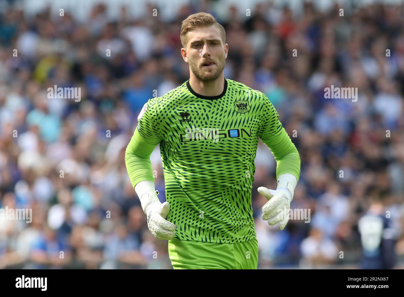
[[[167,201],[160,202],[154,183],[141,181],[135,185],[135,191],[140,198],[143,212],[147,215],[147,227],[151,234],[162,240],[173,239],[177,226],[165,219],[170,212],[170,205]]]

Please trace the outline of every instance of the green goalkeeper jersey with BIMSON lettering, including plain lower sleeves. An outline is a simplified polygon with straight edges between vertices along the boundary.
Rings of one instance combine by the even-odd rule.
[[[299,154],[278,118],[269,99],[244,84],[225,79],[223,93],[202,96],[188,80],[143,106],[125,154],[132,185],[154,181],[150,154],[160,143],[175,237],[219,243],[256,238],[251,191],[258,139],[274,155],[277,177],[300,175]]]

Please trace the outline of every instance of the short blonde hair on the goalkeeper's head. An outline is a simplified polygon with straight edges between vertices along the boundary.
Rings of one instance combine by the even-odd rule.
[[[185,20],[182,21],[180,33],[182,46],[184,48],[186,48],[187,46],[188,38],[186,36],[189,31],[200,27],[208,27],[211,25],[216,25],[216,27],[219,29],[220,37],[223,41],[223,44],[225,44],[225,28],[223,28],[223,26],[217,22],[215,17],[210,13],[194,13],[193,15],[189,15]]]

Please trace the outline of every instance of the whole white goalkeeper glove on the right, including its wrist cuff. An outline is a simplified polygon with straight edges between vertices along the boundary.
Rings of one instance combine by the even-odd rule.
[[[289,221],[290,202],[297,185],[297,179],[290,173],[284,173],[278,178],[276,190],[269,190],[266,187],[259,187],[259,194],[265,196],[267,203],[262,207],[262,219],[268,221],[273,226],[279,224],[279,229],[283,230]]]

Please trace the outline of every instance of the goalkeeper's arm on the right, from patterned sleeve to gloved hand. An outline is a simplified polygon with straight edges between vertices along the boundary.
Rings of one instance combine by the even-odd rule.
[[[276,160],[276,190],[259,187],[258,192],[269,200],[262,208],[262,218],[269,225],[280,223],[283,230],[289,220],[290,202],[300,176],[300,156],[281,122],[278,112],[269,99],[263,95],[263,108],[259,138],[271,150]]]

